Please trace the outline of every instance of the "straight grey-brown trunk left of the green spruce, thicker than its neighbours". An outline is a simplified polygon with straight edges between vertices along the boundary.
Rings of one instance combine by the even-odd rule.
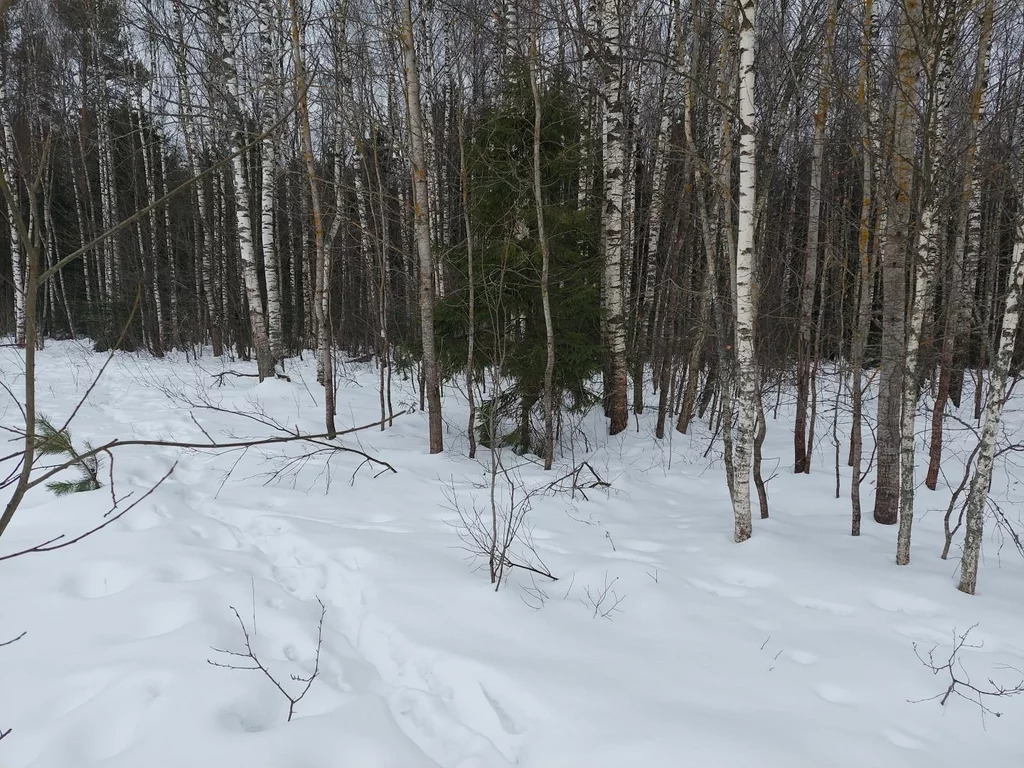
[[[410,157],[413,162],[413,220],[416,250],[420,262],[420,339],[423,345],[423,367],[430,424],[430,453],[443,450],[441,393],[434,345],[434,283],[433,257],[430,253],[430,200],[427,187],[427,158],[420,112],[420,73],[416,62],[416,42],[413,33],[413,3],[402,0],[401,46],[406,67],[406,98],[409,108]]]

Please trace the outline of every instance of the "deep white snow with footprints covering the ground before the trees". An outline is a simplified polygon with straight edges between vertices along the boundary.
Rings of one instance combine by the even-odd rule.
[[[0,353],[15,391],[20,359]],[[104,359],[85,345],[49,344],[41,412],[62,422]],[[291,382],[227,377],[217,387],[211,374],[221,365],[119,354],[72,435],[99,443],[270,434],[230,411],[319,430],[308,357],[290,364]],[[396,410],[416,400],[408,382],[395,383]],[[588,489],[588,499],[535,494],[534,545],[558,581],[515,570],[498,593],[467,553],[455,509],[489,504],[488,454],[466,458],[465,406],[445,395],[444,455],[427,455],[419,412],[345,438],[396,474],[375,477],[379,468],[355,455],[289,465],[295,445],[120,451],[115,489],[133,494],[121,508],[177,465],[99,534],[0,562],[0,642],[28,633],[0,648],[0,730],[13,729],[0,741],[0,766],[1024,765],[1024,696],[985,701],[1001,718],[956,697],[913,702],[948,684],[914,643],[938,646],[944,662],[953,633],[974,625],[981,647],[961,654],[971,680],[1024,677],[1008,669],[1024,670],[1024,562],[993,534],[979,594],[958,593],[958,551],[938,557],[941,486],[919,494],[909,567],[893,564],[895,530],[869,519],[869,503],[864,535],[848,536],[849,471],[837,500],[827,393],[809,477],[787,471],[786,406],[769,421],[766,470],[780,464],[769,484],[773,517],[756,521],[741,546],[731,541],[705,425],[659,443],[652,414],[614,438],[595,415],[553,473],[507,453],[526,489],[585,459],[611,487]],[[18,411],[3,398],[0,420],[16,426]],[[339,428],[375,421],[375,371],[347,366],[338,401]],[[1020,414],[1010,418],[1017,428]],[[947,464],[957,482],[968,444],[958,439]],[[109,468],[104,461],[104,477]],[[866,483],[868,502],[870,493]],[[993,494],[1020,517],[1013,471],[999,470]],[[110,507],[105,482],[66,498],[34,490],[0,556],[85,530]],[[291,676],[313,669],[317,598],[327,608],[319,675],[292,722],[259,672],[208,664],[231,663],[214,648],[244,648],[233,606],[260,658],[288,691],[301,689]]]

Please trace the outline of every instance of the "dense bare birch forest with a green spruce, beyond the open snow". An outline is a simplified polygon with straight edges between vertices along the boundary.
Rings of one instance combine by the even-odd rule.
[[[260,412],[259,444],[361,420],[481,462],[489,511],[447,494],[496,587],[555,580],[502,452],[575,503],[621,436],[700,440],[737,545],[818,482],[910,566],[938,510],[914,566],[980,596],[1024,557],[1022,108],[1015,0],[0,0],[0,542],[48,452],[89,492],[131,444],[75,447],[91,388],[36,411],[75,341],[270,396],[309,361],[318,423]],[[242,444],[191,420],[132,440]]]

